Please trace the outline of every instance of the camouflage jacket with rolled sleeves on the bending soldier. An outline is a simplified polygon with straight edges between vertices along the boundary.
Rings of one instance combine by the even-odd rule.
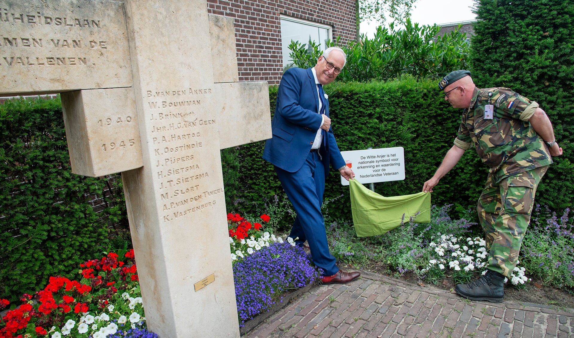
[[[484,118],[484,106],[494,106],[494,118]],[[464,109],[455,145],[476,147],[476,152],[495,182],[518,172],[552,163],[542,137],[528,120],[538,103],[508,88],[476,89],[468,109]]]

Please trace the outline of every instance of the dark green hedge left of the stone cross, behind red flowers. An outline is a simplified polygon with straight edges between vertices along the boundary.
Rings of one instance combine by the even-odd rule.
[[[0,105],[0,298],[32,294],[49,276],[76,278],[79,263],[129,240],[115,182],[72,174],[59,99]],[[96,214],[88,201],[108,185],[115,206]],[[108,222],[117,225],[110,234]]]

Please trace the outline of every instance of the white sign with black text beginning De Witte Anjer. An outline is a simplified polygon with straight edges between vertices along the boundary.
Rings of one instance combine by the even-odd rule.
[[[362,184],[405,179],[403,147],[342,151],[341,155]],[[341,184],[349,182],[341,176]]]

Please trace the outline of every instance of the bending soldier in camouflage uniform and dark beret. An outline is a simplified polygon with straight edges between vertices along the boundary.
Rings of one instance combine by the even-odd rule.
[[[538,103],[507,88],[478,89],[470,72],[453,71],[441,80],[444,99],[464,108],[454,145],[422,191],[447,174],[464,151],[474,145],[490,168],[478,201],[478,217],[486,234],[487,272],[477,281],[457,285],[456,293],[476,301],[502,302],[503,283],[517,264],[518,252],[540,179],[562,155],[552,123]]]

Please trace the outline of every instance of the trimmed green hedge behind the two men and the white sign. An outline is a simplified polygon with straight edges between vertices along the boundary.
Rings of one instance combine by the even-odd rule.
[[[404,147],[405,180],[375,183],[375,191],[386,196],[421,191],[452,147],[460,124],[462,110],[453,109],[444,101],[435,80],[417,82],[405,77],[386,83],[335,82],[325,86],[325,93],[329,95],[332,126],[341,151]],[[276,95],[277,87],[272,87],[272,110]],[[234,198],[241,202],[228,205],[228,210],[256,214],[265,211],[265,205],[272,203],[274,196],[280,201],[285,198],[273,166],[261,159],[264,145],[261,141],[234,149],[240,164]],[[435,187],[432,203],[454,204],[457,216],[466,214],[475,209],[487,173],[476,151],[469,149]],[[573,180],[572,175],[560,181],[543,179],[537,202],[561,208],[571,205]],[[559,185],[563,194],[548,194],[548,183]],[[338,172],[332,170],[325,187],[325,201],[340,195],[343,197],[325,206],[325,213],[335,220],[351,220],[348,186],[340,185]]]

